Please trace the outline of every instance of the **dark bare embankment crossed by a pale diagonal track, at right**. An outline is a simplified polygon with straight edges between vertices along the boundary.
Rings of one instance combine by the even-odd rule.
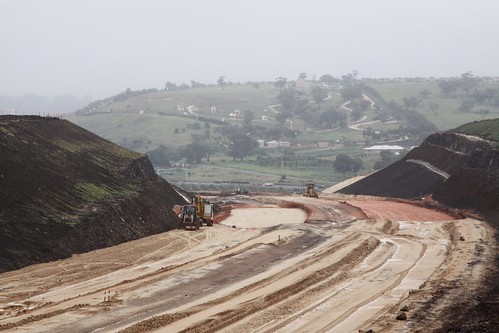
[[[392,165],[339,190],[404,199],[432,195],[451,207],[496,210],[499,151],[476,137],[445,132],[428,137]]]

